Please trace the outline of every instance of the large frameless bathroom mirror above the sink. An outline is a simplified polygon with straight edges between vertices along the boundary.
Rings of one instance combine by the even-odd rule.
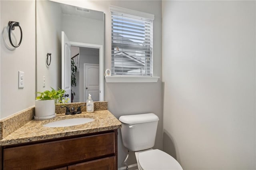
[[[68,62],[62,59],[62,32],[71,45]],[[70,102],[85,102],[89,93],[94,101],[104,101],[103,48],[103,12],[36,1],[36,91],[59,87]]]

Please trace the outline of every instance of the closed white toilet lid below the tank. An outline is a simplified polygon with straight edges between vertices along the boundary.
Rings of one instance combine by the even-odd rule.
[[[139,153],[138,163],[144,170],[182,170],[177,160],[158,149]]]

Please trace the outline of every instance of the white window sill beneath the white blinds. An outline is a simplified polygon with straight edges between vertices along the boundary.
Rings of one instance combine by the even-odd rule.
[[[160,77],[105,76],[106,83],[156,83]]]

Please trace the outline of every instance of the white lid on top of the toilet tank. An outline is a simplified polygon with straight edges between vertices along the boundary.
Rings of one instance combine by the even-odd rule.
[[[159,118],[154,113],[145,113],[139,115],[121,116],[119,121],[126,124],[135,124],[159,121]]]

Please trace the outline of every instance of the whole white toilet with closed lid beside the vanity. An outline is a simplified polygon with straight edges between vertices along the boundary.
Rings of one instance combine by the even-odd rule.
[[[155,144],[158,117],[154,113],[121,116],[122,140],[128,150],[135,151],[139,170],[182,170],[169,154],[152,149]]]

